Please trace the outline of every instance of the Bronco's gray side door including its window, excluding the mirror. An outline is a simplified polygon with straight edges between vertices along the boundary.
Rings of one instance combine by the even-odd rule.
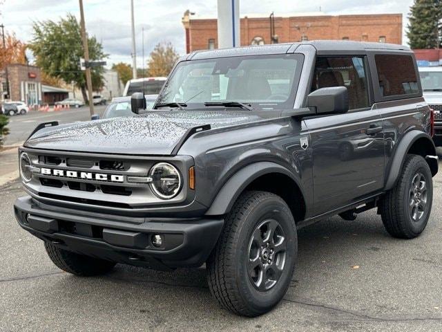
[[[346,86],[349,112],[305,119],[313,149],[315,214],[383,187],[383,122],[370,107],[365,68],[364,56],[316,59],[312,91]]]

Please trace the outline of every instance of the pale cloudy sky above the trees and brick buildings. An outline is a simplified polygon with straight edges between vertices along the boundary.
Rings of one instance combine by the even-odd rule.
[[[225,0],[227,1],[227,0]],[[327,15],[402,13],[403,41],[412,0],[240,0],[240,16],[271,12],[278,15],[300,12],[325,12]],[[6,32],[15,32],[25,42],[32,40],[32,22],[64,17],[67,12],[79,17],[78,0],[0,0],[0,21]],[[145,59],[158,42],[171,42],[180,55],[185,53],[182,15],[189,9],[196,15],[216,17],[217,0],[134,0],[137,66],[142,67],[142,30]],[[102,42],[108,65],[131,63],[131,1],[84,0],[86,30]]]

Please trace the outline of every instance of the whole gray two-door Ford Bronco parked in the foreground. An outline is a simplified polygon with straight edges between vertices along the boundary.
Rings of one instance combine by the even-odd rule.
[[[41,124],[19,150],[22,228],[62,270],[204,263],[239,315],[278,304],[297,230],[376,208],[411,239],[432,208],[434,119],[412,51],[304,42],[194,52],[153,110]]]

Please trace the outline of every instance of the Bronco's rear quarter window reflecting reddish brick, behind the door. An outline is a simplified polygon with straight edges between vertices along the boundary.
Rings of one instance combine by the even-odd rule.
[[[377,54],[374,60],[383,97],[419,93],[414,62],[410,55]]]

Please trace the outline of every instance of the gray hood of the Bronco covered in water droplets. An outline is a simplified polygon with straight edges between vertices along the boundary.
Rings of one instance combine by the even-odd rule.
[[[214,129],[258,120],[262,120],[262,116],[248,111],[155,111],[140,116],[48,127],[37,131],[24,146],[60,151],[168,155],[192,127],[211,124]]]

